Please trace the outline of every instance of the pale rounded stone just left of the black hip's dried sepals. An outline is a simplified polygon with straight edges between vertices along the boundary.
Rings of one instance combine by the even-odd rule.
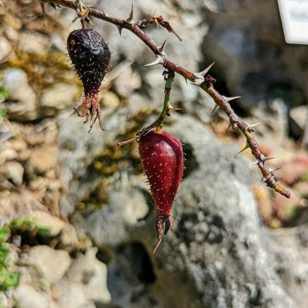
[[[42,94],[41,107],[46,117],[54,115],[57,111],[73,106],[78,94],[78,87],[64,83],[57,83],[46,88]]]

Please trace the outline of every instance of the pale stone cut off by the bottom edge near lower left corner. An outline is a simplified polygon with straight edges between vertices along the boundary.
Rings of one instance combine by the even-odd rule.
[[[38,291],[37,288],[30,284],[21,283],[14,291],[14,300],[16,308],[57,308],[47,294]]]

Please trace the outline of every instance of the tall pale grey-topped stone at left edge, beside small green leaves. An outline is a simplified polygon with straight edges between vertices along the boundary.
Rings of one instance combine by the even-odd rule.
[[[20,122],[35,120],[36,95],[29,86],[27,74],[20,68],[7,69],[3,76],[3,86],[9,89],[9,97],[4,103],[8,118]]]

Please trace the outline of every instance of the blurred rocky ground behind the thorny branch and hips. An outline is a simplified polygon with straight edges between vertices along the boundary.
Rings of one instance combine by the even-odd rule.
[[[265,186],[226,115],[176,76],[165,128],[184,143],[175,228],[155,256],[155,211],[137,145],[159,115],[162,67],[126,30],[94,20],[112,68],[105,131],[74,112],[82,85],[67,62],[75,13],[35,0],[0,4],[0,307],[306,307],[308,47],[284,41],[276,0],[138,0],[182,37],[145,31],[190,71],[216,61],[215,87],[249,124],[291,199]],[[130,2],[88,0],[127,18]],[[307,27],[308,24],[304,24]]]

